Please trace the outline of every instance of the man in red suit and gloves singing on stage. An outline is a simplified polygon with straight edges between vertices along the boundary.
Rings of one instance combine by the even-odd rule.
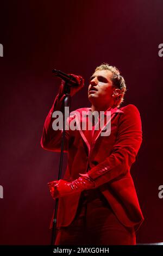
[[[82,77],[73,77],[78,86],[71,87],[71,96],[84,84]],[[52,197],[59,198],[55,245],[136,244],[135,232],[143,215],[130,167],[142,142],[142,129],[134,105],[120,108],[125,92],[126,84],[118,69],[102,64],[90,78],[91,108],[77,109],[67,118],[67,124],[85,124],[86,129],[66,130],[64,151],[68,163],[64,179],[49,182]],[[64,98],[62,83],[45,120],[43,149],[61,149],[62,130],[53,129],[56,118],[52,115],[62,110]],[[95,113],[99,113],[98,120]],[[102,126],[98,125],[100,119]],[[90,124],[92,128],[88,129]],[[107,135],[104,131],[108,124]]]

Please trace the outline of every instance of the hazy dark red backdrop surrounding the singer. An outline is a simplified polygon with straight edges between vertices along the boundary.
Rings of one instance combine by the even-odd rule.
[[[52,69],[85,78],[75,109],[90,106],[88,80],[102,62],[121,70],[128,86],[123,105],[135,104],[142,118],[143,143],[131,168],[145,216],[137,242],[163,241],[162,13],[161,0],[1,3],[1,245],[50,243],[47,182],[57,178],[59,154],[43,150],[40,138],[59,88]]]

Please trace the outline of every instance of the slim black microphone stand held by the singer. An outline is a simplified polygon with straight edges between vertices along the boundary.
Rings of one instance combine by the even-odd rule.
[[[62,171],[62,162],[63,162],[63,156],[64,156],[64,144],[65,144],[65,107],[70,107],[70,86],[68,86],[65,82],[64,84],[64,94],[66,94],[64,99],[64,110],[63,113],[63,132],[62,132],[62,138],[61,138],[61,154],[60,154],[60,161],[59,161],[59,172],[58,172],[58,180],[61,179],[61,171]],[[56,231],[57,231],[57,212],[58,212],[58,204],[59,204],[59,198],[55,199],[55,206],[54,206],[54,217],[53,217],[53,227],[52,227],[52,239],[51,239],[51,245],[54,245],[55,237],[56,237]]]

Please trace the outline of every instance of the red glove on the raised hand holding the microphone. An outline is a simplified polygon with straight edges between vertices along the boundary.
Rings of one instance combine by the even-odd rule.
[[[70,95],[73,96],[80,89],[82,89],[84,87],[84,79],[82,76],[76,76],[73,74],[68,74],[68,75],[73,76],[75,78],[75,80],[77,81],[77,84],[75,86],[70,87]],[[64,85],[65,85],[65,81],[62,80],[61,86],[59,88],[59,96],[62,96],[64,94]]]

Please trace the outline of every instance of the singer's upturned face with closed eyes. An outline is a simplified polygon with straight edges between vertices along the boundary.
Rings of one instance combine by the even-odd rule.
[[[91,76],[88,98],[92,104],[105,105],[111,102],[111,95],[114,92],[111,76],[110,70],[97,70]]]

